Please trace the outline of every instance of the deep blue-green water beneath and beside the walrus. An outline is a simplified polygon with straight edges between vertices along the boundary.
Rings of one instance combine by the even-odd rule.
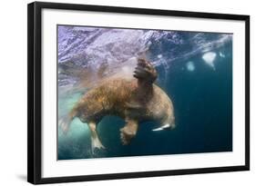
[[[155,47],[150,48],[151,54]],[[161,43],[162,50],[165,47],[168,50],[169,43]],[[157,66],[157,84],[174,104],[174,130],[152,132],[157,123],[141,123],[137,136],[124,146],[119,129],[125,122],[108,116],[98,124],[98,135],[107,149],[92,154],[87,124],[76,119],[67,135],[59,132],[58,159],[232,151],[232,42],[210,52],[216,54],[214,68],[203,60],[203,52],[177,59],[169,67]],[[193,67],[189,68],[188,62]],[[72,105],[80,96],[78,93],[60,104]]]

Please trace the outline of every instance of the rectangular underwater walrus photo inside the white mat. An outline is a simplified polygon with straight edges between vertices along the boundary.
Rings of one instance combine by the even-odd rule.
[[[232,151],[232,34],[56,29],[57,160]]]

